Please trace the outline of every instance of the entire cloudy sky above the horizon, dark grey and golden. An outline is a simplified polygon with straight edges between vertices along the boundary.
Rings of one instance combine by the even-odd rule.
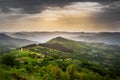
[[[0,0],[0,32],[120,32],[120,0]]]

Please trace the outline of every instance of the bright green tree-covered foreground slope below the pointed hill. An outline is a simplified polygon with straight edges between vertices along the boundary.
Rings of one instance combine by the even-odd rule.
[[[60,56],[59,51],[48,50],[47,56],[41,52],[18,49],[2,55],[0,79],[120,80],[112,67],[107,69],[88,60]]]

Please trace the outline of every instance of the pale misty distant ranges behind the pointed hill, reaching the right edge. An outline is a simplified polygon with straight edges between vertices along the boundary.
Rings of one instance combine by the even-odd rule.
[[[16,32],[7,33],[9,36],[45,43],[52,38],[61,36],[75,41],[105,43],[110,45],[120,45],[120,33],[101,32],[101,33],[84,33],[84,32]]]

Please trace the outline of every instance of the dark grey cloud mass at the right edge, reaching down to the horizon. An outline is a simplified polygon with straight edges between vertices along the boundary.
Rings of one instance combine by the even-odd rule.
[[[112,2],[94,16],[95,22],[107,24],[110,31],[120,31],[120,1]]]

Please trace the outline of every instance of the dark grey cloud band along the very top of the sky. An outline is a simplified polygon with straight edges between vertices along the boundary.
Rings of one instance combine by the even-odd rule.
[[[23,13],[38,13],[46,6],[64,6],[71,2],[100,2],[108,4],[119,0],[0,0],[0,8],[3,12],[10,12],[9,8],[22,8]]]

